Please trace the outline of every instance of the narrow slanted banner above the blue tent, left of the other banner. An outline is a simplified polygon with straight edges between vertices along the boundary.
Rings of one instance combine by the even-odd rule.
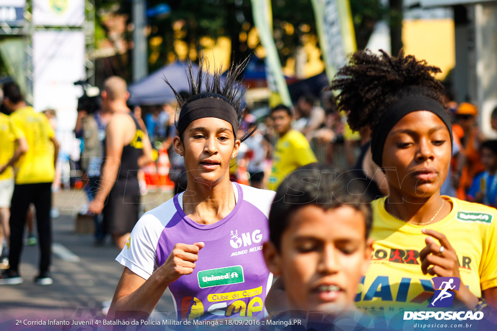
[[[251,0],[252,2],[252,15],[255,27],[259,35],[260,42],[266,51],[265,68],[267,86],[272,93],[279,95],[279,101],[286,106],[292,105],[288,86],[286,85],[281,62],[278,56],[278,50],[274,43],[273,29],[272,29],[272,12],[270,0]],[[270,106],[275,106],[276,102],[271,102]]]

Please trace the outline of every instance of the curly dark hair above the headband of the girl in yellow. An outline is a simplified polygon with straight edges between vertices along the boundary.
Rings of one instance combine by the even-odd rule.
[[[443,106],[443,85],[434,77],[440,68],[405,56],[403,50],[397,58],[380,52],[351,54],[349,64],[338,70],[329,87],[340,91],[338,109],[348,114],[348,125],[354,131],[368,125],[374,131],[387,109],[406,96],[427,96]]]

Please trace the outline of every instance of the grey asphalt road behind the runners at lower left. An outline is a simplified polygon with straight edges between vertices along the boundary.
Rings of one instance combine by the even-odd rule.
[[[149,210],[171,196],[168,192],[149,192],[142,197],[144,209]],[[54,206],[60,212],[58,217],[52,219],[54,246],[51,272],[54,283],[49,286],[34,284],[39,249],[37,246],[24,246],[20,266],[24,282],[0,286],[0,330],[34,330],[22,325],[22,322],[13,327],[16,320],[103,318],[102,308],[106,301],[112,299],[123,267],[114,261],[119,250],[110,238],[104,246],[95,246],[91,234],[75,232],[76,213],[85,203],[81,191],[54,194]],[[161,317],[171,312],[173,303],[166,290],[155,314]]]

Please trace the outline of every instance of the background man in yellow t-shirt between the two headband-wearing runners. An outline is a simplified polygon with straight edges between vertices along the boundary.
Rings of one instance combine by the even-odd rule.
[[[273,155],[271,176],[268,181],[269,190],[276,191],[278,185],[292,171],[300,166],[318,162],[304,134],[292,130],[292,111],[285,105],[278,105],[271,111],[274,130],[279,139]]]

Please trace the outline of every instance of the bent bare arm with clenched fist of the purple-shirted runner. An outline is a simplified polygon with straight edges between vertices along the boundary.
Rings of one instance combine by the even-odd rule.
[[[181,243],[174,245],[166,262],[147,280],[125,267],[112,298],[108,316],[147,318],[167,286],[182,275],[193,272],[198,252],[203,247],[202,242],[193,245]]]

